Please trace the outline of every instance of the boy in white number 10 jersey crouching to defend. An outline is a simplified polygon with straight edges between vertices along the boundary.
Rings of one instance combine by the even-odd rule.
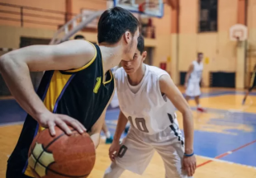
[[[192,176],[196,170],[192,111],[168,73],[143,63],[146,54],[144,39],[139,36],[134,59],[121,61],[123,68],[116,70],[121,112],[109,149],[112,163],[104,178],[118,178],[125,170],[142,175],[154,150],[164,161],[166,178]],[[185,152],[174,105],[183,114]],[[130,130],[120,144],[128,120]]]

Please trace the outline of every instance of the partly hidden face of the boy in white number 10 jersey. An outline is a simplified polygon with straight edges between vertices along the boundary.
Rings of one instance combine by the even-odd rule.
[[[132,74],[135,73],[138,68],[142,65],[143,61],[145,60],[147,56],[147,52],[144,51],[142,54],[140,54],[140,51],[136,49],[133,60],[131,61],[121,61],[121,66],[125,69],[126,73]]]

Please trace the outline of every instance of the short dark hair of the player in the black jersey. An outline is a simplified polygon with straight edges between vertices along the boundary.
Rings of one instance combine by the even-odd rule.
[[[138,29],[140,22],[126,9],[113,7],[102,13],[97,24],[98,43],[115,44],[121,39],[126,30],[132,35]]]

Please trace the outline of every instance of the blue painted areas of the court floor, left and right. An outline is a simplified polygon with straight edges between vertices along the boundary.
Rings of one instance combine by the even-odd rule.
[[[223,95],[241,95],[243,91],[211,91],[202,93],[202,97]],[[256,92],[251,93],[256,96]],[[196,108],[192,108],[196,110]],[[217,157],[225,152],[239,148],[246,143],[256,140],[256,110],[255,114],[245,112],[229,112],[207,108],[210,115],[202,129],[195,130],[194,151],[204,157]],[[115,133],[119,109],[107,110],[106,122],[111,134]],[[23,121],[26,113],[14,100],[0,101],[0,125]],[[200,120],[198,121],[200,122]],[[208,128],[209,127],[209,128]],[[206,130],[213,131],[206,131]],[[217,132],[214,129],[221,129]],[[223,133],[224,132],[224,133]],[[122,138],[125,134],[122,135]],[[235,162],[248,166],[256,166],[256,143],[239,149],[232,154],[222,157],[221,160]]]

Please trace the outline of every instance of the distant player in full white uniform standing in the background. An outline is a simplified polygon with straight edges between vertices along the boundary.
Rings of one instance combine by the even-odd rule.
[[[189,66],[186,79],[185,79],[185,88],[186,88],[186,100],[189,101],[191,97],[195,97],[195,101],[197,103],[197,110],[204,112],[203,108],[201,108],[199,98],[201,95],[200,82],[202,81],[202,64],[203,54],[197,54],[197,60],[194,60],[192,64]]]

